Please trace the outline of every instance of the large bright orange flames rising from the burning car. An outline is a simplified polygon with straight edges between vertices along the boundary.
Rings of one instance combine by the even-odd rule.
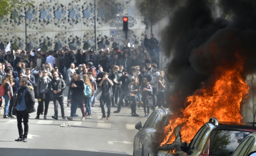
[[[164,128],[164,140],[160,146],[172,144],[175,141],[175,128],[180,130],[182,142],[190,142],[199,128],[210,117],[219,121],[241,122],[240,102],[246,98],[249,86],[243,80],[243,61],[237,62],[236,67],[225,69],[218,67],[214,72],[216,79],[213,84],[195,91],[187,97],[187,108],[181,109],[182,114],[174,113],[169,119],[169,125]]]

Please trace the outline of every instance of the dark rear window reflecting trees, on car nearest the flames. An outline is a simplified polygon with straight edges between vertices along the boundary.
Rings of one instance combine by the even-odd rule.
[[[231,156],[250,132],[214,130],[210,137],[210,155]]]

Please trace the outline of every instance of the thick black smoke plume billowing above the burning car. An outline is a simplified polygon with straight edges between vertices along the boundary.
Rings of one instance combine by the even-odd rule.
[[[166,10],[171,11],[165,12],[168,25],[161,32],[161,51],[172,58],[167,68],[169,74],[176,78],[170,95],[172,111],[186,108],[186,97],[199,89],[202,82],[206,86],[213,83],[217,67],[230,69],[238,61],[244,61],[243,78],[255,73],[256,1],[170,1],[172,3],[158,1],[162,4],[156,5],[165,4],[169,7]],[[142,4],[141,1],[139,3]],[[143,0],[143,3],[150,5],[152,0]],[[157,9],[147,12],[145,18],[159,12]],[[154,140],[158,141],[153,144],[159,147],[163,133],[156,134],[157,139]]]

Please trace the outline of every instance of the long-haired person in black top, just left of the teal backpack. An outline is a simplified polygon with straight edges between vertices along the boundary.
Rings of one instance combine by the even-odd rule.
[[[80,75],[74,73],[71,78],[71,83],[69,85],[70,90],[72,90],[71,95],[71,114],[67,117],[68,120],[73,120],[73,116],[76,113],[77,105],[79,105],[83,118],[85,117],[83,99],[84,99],[84,82],[80,79]]]

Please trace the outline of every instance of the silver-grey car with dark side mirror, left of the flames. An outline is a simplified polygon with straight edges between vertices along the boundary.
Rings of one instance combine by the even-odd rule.
[[[168,124],[168,119],[172,115],[169,109],[159,107],[156,109],[147,119],[142,127],[141,122],[135,125],[135,129],[139,132],[134,137],[133,143],[133,155],[134,156],[148,156],[150,154],[150,142],[152,141],[152,135],[156,131],[156,124],[159,121]]]

